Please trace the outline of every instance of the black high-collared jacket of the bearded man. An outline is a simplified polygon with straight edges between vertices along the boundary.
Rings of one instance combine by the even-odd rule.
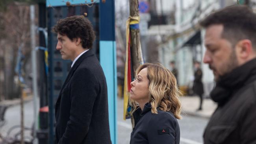
[[[211,98],[218,107],[204,144],[256,144],[256,59],[221,77]]]

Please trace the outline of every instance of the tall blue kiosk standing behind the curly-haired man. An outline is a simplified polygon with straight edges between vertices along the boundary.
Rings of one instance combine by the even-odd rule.
[[[55,141],[54,108],[61,85],[67,77],[72,61],[61,59],[56,50],[57,35],[51,32],[56,22],[72,15],[87,15],[95,30],[93,49],[104,70],[108,85],[108,108],[111,141],[117,144],[117,69],[115,46],[114,0],[46,0],[48,28],[48,105],[49,144]]]

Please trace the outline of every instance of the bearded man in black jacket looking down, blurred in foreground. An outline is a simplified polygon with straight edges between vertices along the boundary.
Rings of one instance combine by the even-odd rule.
[[[256,144],[256,14],[231,6],[201,22],[208,63],[216,81],[218,107],[204,132],[204,144]]]

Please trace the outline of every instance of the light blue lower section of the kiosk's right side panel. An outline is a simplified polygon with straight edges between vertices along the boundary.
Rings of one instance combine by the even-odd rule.
[[[108,85],[109,127],[112,144],[117,144],[117,66],[115,41],[100,41],[100,65]]]

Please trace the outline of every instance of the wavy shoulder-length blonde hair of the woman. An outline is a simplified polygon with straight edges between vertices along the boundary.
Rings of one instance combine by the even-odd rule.
[[[161,111],[171,111],[177,119],[181,119],[182,105],[179,96],[182,94],[177,87],[177,81],[173,73],[159,63],[145,63],[137,68],[136,75],[143,68],[147,68],[148,72],[151,112],[157,114],[157,108],[159,108]],[[130,99],[130,104],[135,111],[138,107],[136,102]]]

